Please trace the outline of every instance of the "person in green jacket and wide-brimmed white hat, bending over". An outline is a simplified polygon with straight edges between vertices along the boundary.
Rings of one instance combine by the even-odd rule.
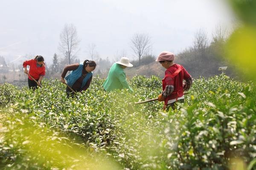
[[[129,89],[130,92],[133,92],[131,87],[126,81],[126,75],[124,69],[126,67],[132,67],[133,65],[129,62],[129,59],[122,57],[119,62],[115,62],[109,72],[108,77],[103,83],[103,88],[105,91],[113,91],[116,89]]]

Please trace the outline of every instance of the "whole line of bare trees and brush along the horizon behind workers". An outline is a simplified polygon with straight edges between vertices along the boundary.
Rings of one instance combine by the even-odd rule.
[[[230,31],[231,32],[231,31]],[[70,43],[70,36],[73,39]],[[207,37],[207,31],[204,28],[198,29],[195,32],[193,43],[191,47],[186,48],[179,54],[175,54],[175,62],[183,65],[187,71],[194,78],[211,77],[216,74],[220,74],[218,71],[219,67],[227,66],[225,74],[236,78],[238,74],[234,68],[239,67],[239,65],[231,64],[227,59],[227,52],[225,44],[229,38],[229,32],[223,26],[216,27],[215,31],[212,33],[212,39]],[[62,70],[66,65],[83,62],[78,59],[77,52],[79,51],[79,39],[76,27],[71,25],[65,25],[61,34],[59,42],[59,53],[55,53],[52,56],[52,64],[49,65],[51,61],[46,61],[46,78],[59,78]],[[67,45],[67,43],[70,43]],[[70,48],[72,47],[72,48]],[[152,54],[152,42],[151,37],[148,34],[134,34],[131,38],[131,48],[133,55],[137,57],[137,60],[131,61],[134,65],[133,68],[127,68],[128,77],[133,77],[135,74],[142,74],[145,76],[156,75],[160,76],[164,73],[164,69],[161,65],[155,62],[157,54]],[[168,49],[166,49],[168,50]],[[158,51],[160,53],[161,51]],[[87,47],[88,55],[84,59],[91,59],[96,61],[97,67],[94,74],[100,75],[100,77],[107,77],[109,68],[113,62],[119,61],[121,57],[128,57],[126,51],[117,51],[116,54],[102,59],[99,57],[99,53],[96,51],[96,45],[91,43]],[[32,56],[25,56],[26,59],[33,58]],[[0,57],[0,67],[6,67],[6,62],[4,57]],[[22,65],[17,67],[22,72]],[[0,68],[1,69],[1,68]],[[3,69],[8,72],[7,69]],[[13,66],[13,69],[15,67]],[[2,71],[3,73],[3,71]],[[8,76],[7,76],[8,77]],[[10,76],[9,76],[10,77]],[[3,78],[3,76],[2,76]],[[7,78],[8,79],[8,78]],[[3,80],[4,82],[4,80]]]

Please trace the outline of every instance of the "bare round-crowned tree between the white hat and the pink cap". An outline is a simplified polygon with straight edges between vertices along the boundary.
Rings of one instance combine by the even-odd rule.
[[[151,49],[151,38],[148,34],[134,34],[131,39],[131,48],[134,51],[136,57],[140,59],[143,57],[143,54],[147,53]]]

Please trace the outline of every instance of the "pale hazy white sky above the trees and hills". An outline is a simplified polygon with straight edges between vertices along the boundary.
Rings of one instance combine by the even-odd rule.
[[[224,0],[0,0],[0,55],[8,62],[26,54],[52,62],[65,23],[77,28],[81,60],[89,43],[102,58],[126,51],[132,59],[134,33],[151,36],[154,55],[178,53],[192,45],[198,28],[211,38],[215,26],[231,27],[234,18]]]

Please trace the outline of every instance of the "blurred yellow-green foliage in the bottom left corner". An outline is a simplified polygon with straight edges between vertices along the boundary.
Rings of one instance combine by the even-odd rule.
[[[99,169],[117,170],[110,157],[92,153],[83,143],[67,138],[61,131],[38,122],[35,116],[24,114],[12,106],[5,127],[0,128],[0,169]],[[2,113],[4,114],[4,113]]]

